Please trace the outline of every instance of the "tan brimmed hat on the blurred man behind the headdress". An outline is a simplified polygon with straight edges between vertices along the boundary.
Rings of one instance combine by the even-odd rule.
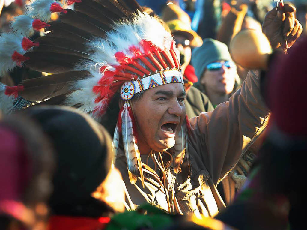
[[[168,4],[162,12],[162,20],[169,26],[173,35],[180,34],[187,37],[191,47],[203,44],[201,37],[191,28],[190,17],[180,6]]]

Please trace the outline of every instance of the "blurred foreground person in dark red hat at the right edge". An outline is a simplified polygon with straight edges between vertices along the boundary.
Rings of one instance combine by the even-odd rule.
[[[271,110],[266,139],[244,189],[217,216],[237,229],[305,228],[301,175],[305,173],[307,126],[301,105],[305,104],[306,52],[304,39],[288,56],[269,58],[269,68],[262,76],[263,95]]]

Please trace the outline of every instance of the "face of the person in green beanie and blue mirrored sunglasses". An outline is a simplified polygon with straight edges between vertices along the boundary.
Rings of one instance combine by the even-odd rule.
[[[224,61],[216,61],[224,63]],[[235,86],[236,67],[227,68],[222,66],[218,70],[206,69],[200,79],[200,84],[207,90],[219,94],[230,94]]]

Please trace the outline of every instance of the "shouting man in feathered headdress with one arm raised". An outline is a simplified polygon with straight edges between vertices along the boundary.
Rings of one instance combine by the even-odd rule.
[[[163,26],[133,0],[73,2],[74,11],[54,0],[33,1],[15,19],[15,32],[2,35],[0,50],[11,47],[0,52],[2,72],[25,64],[53,75],[0,86],[1,108],[12,112],[50,98],[43,103],[76,106],[99,118],[120,96],[114,164],[129,208],[148,202],[170,213],[214,216],[225,206],[216,185],[269,118],[257,72],[228,102],[188,120],[180,57]],[[293,30],[293,8],[285,6],[286,19],[275,10],[266,22],[279,45],[282,25],[293,43],[300,34]],[[51,12],[61,12],[60,21],[46,24]],[[51,32],[36,41],[23,37],[37,27]]]

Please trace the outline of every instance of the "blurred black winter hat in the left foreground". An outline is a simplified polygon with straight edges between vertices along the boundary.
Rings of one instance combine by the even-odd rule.
[[[107,131],[89,115],[68,107],[29,107],[23,114],[41,125],[56,151],[51,207],[88,200],[111,167]]]

